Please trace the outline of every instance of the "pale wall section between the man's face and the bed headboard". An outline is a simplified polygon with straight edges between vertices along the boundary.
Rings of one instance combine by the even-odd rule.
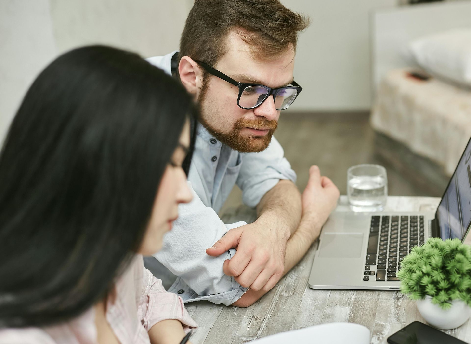
[[[310,16],[300,35],[294,80],[303,93],[292,105],[300,111],[369,109],[369,15],[397,0],[282,0],[286,7]]]

